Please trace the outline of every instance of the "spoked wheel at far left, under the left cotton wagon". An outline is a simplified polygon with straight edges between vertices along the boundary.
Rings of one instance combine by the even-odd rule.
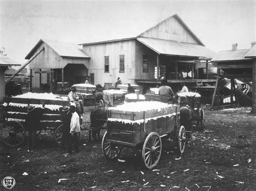
[[[25,129],[18,121],[6,121],[3,128],[0,129],[0,135],[5,145],[16,147],[24,141]]]

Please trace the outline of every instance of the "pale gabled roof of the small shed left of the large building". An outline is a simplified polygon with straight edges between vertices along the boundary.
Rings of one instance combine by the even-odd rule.
[[[36,48],[41,43],[49,45],[61,57],[90,58],[74,43],[62,42],[59,40],[40,39],[33,49],[28,53],[25,59],[30,59],[33,56],[33,53],[36,51]]]

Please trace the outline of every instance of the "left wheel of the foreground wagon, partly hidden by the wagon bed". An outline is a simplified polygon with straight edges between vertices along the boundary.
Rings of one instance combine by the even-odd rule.
[[[111,144],[106,139],[106,134],[107,134],[107,132],[105,132],[105,134],[102,138],[102,152],[103,152],[106,159],[109,159],[109,160],[117,159],[117,156],[122,151],[122,147]]]

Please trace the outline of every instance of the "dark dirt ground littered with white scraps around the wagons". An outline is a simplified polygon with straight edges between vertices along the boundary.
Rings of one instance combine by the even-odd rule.
[[[219,111],[205,109],[205,129],[195,129],[184,154],[164,144],[152,170],[143,167],[142,152],[123,148],[118,161],[108,161],[100,142],[83,131],[80,153],[64,156],[52,135],[42,133],[38,148],[5,148],[3,176],[16,180],[14,189],[182,189],[255,190],[256,116],[250,107]],[[84,124],[89,126],[91,108]],[[105,130],[101,131],[101,136]],[[26,172],[28,175],[23,175]],[[67,180],[62,180],[67,179]],[[1,188],[3,188],[1,186]]]

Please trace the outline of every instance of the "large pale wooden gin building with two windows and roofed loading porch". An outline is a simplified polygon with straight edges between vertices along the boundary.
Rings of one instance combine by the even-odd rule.
[[[172,87],[181,81],[192,86],[216,81],[208,75],[209,61],[216,53],[177,14],[136,37],[79,45],[91,57],[89,75],[96,84],[110,86],[117,77],[144,87],[156,87],[161,76]]]

